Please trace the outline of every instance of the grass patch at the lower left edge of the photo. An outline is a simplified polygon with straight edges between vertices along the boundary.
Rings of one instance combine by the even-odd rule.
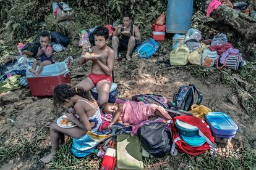
[[[30,154],[35,154],[41,149],[40,142],[45,139],[47,131],[40,131],[33,137],[32,140],[28,140],[25,136],[19,136],[17,144],[6,144],[1,142],[0,145],[0,162],[1,165],[11,160],[14,157],[25,158]],[[1,167],[1,166],[0,166]]]

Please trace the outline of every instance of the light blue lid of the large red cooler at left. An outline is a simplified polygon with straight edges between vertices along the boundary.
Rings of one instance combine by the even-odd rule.
[[[36,70],[38,67],[36,67]],[[63,75],[65,73],[69,73],[69,68],[67,68],[67,65],[65,62],[58,62],[58,63],[53,63],[51,65],[46,65],[43,67],[43,70],[39,74],[39,76],[33,75],[29,71],[29,69],[26,70],[26,77],[27,78],[33,78],[33,77],[45,77],[45,76],[59,76]]]

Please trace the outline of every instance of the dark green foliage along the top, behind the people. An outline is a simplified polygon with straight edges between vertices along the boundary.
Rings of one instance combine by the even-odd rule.
[[[7,44],[15,44],[27,40],[36,33],[55,30],[51,4],[48,0],[0,0],[0,38]],[[55,1],[56,2],[56,1]],[[122,14],[129,10],[142,34],[150,34],[151,22],[166,10],[166,0],[110,0],[110,1],[66,1],[75,10],[76,26],[74,31],[89,29],[95,25],[112,24],[121,19]],[[98,20],[101,18],[101,20]],[[78,34],[77,34],[78,36]]]

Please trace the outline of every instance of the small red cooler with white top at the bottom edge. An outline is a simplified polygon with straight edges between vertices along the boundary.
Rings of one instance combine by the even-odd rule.
[[[116,166],[116,150],[108,148],[101,163],[101,170],[113,170]]]

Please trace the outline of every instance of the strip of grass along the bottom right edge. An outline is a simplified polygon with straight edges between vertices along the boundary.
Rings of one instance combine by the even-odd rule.
[[[153,159],[156,160],[156,159]],[[252,150],[244,150],[239,155],[229,156],[227,158],[213,158],[207,154],[200,156],[190,156],[181,153],[177,156],[164,157],[152,163],[165,162],[171,169],[254,169],[256,167],[256,155]],[[152,164],[146,167],[152,169]]]

